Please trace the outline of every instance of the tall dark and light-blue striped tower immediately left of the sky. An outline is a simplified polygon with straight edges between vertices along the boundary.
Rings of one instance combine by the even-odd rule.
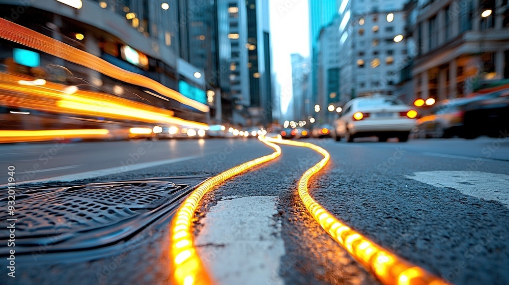
[[[219,2],[227,3],[229,12],[233,122],[241,125],[271,123],[273,103],[268,3],[261,0]]]

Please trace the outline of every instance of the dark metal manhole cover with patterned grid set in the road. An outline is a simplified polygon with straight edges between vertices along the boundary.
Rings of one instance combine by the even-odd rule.
[[[174,211],[206,178],[173,177],[84,185],[16,188],[16,253],[44,245],[49,251],[107,246],[128,240]],[[171,181],[171,182],[170,182]],[[6,209],[7,191],[0,196]],[[0,233],[7,244],[8,231]]]

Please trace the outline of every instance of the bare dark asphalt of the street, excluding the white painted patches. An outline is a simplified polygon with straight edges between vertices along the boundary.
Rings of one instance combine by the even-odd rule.
[[[494,145],[496,138],[485,137],[410,140],[405,144],[369,140],[354,144],[335,143],[330,139],[307,141],[331,154],[329,164],[312,179],[309,190],[315,200],[338,219],[451,283],[509,283],[506,269],[509,264],[509,208],[500,201],[412,179],[417,172],[436,170],[475,172],[473,176],[477,173],[509,175],[509,145],[505,140],[498,145]],[[143,146],[142,141],[69,144],[64,147],[65,152],[56,154],[49,163],[60,164],[47,168],[65,166],[66,162],[79,164],[79,157],[83,155],[99,164],[101,159],[115,162],[108,167],[120,166],[120,162],[139,146]],[[10,152],[9,147],[12,148],[0,146],[0,151]],[[219,201],[232,196],[276,197],[272,219],[274,226],[280,225],[278,235],[284,241],[285,254],[279,260],[279,268],[273,270],[275,276],[287,284],[377,284],[369,272],[321,230],[300,202],[297,182],[321,156],[309,149],[281,148],[279,158],[209,192],[196,213],[195,234],[200,235],[208,209]],[[28,160],[25,163],[30,167],[47,149],[48,145],[30,145],[21,150],[25,154],[13,157],[19,158],[20,165],[21,160]],[[143,155],[139,163],[185,156],[197,158],[80,182],[210,177],[270,154],[272,149],[254,139],[209,139],[154,141],[146,151],[147,155]],[[69,173],[59,175],[79,170],[79,167],[67,169]],[[44,175],[51,177],[47,172]],[[473,177],[472,181],[475,180]],[[495,182],[499,184],[493,185],[501,185],[499,192],[509,191],[507,181]],[[65,182],[60,184],[65,185]],[[171,217],[161,220],[158,226],[148,227],[140,233],[138,242],[100,252],[96,258],[64,253],[47,254],[39,261],[17,257],[19,275],[15,282],[4,277],[5,266],[0,271],[2,281],[5,284],[167,283],[171,274],[167,260],[169,220]],[[3,260],[5,263],[6,259]],[[104,266],[111,262],[116,264],[115,269],[105,270]]]

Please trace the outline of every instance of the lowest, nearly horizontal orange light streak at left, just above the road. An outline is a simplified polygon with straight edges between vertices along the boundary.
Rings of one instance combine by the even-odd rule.
[[[106,129],[76,130],[0,130],[0,143],[20,143],[25,141],[43,141],[57,138],[107,138]]]

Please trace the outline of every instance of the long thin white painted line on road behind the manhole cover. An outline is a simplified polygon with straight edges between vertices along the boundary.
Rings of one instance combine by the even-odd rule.
[[[177,163],[177,162],[181,162],[181,161],[195,159],[198,157],[200,157],[200,156],[188,156],[188,157],[158,160],[158,161],[152,161],[152,162],[136,163],[136,164],[132,164],[129,166],[123,164],[123,166],[119,166],[119,167],[92,170],[92,171],[88,171],[88,172],[63,175],[63,176],[57,176],[57,177],[51,177],[51,178],[45,178],[45,179],[23,181],[22,183],[18,183],[18,185],[27,184],[27,183],[39,183],[39,182],[53,182],[53,181],[70,182],[70,181],[75,181],[75,180],[91,179],[91,178],[95,178],[95,177],[130,172],[133,170],[155,167],[155,166],[160,166],[160,165],[164,165],[164,164]],[[0,185],[0,186],[7,186],[7,184]]]

